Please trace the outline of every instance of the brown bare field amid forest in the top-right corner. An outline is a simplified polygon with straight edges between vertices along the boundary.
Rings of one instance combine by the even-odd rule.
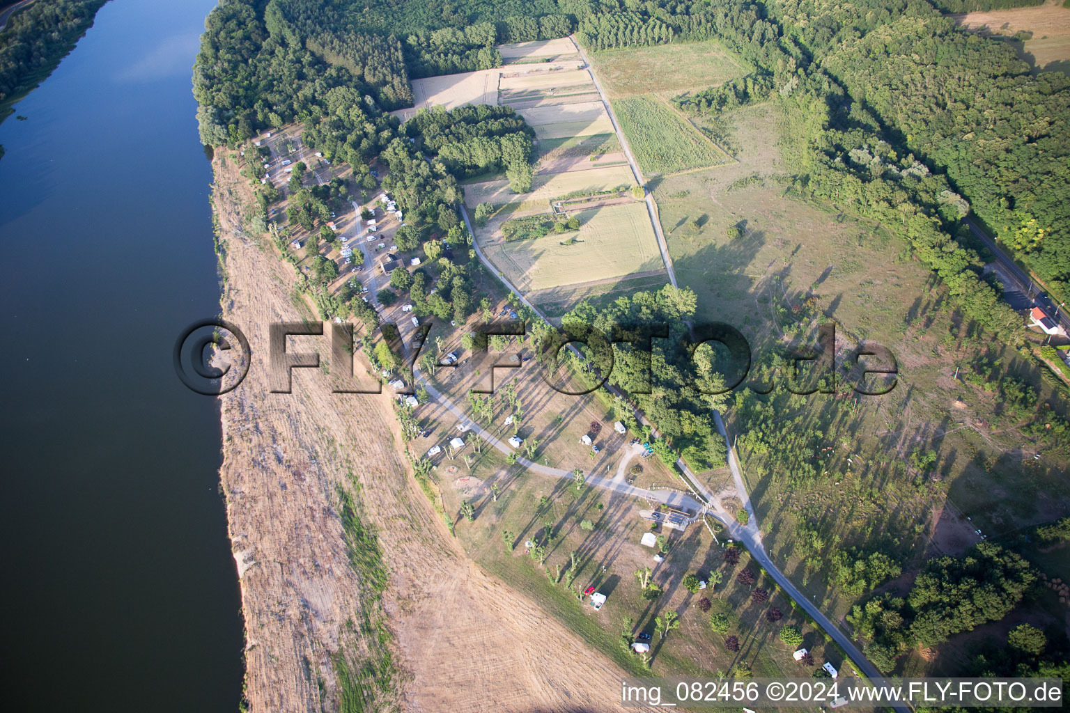
[[[1034,74],[1056,69],[1070,74],[1070,7],[1048,2],[1037,7],[1014,7],[990,12],[950,15],[961,28],[985,36],[997,36],[1010,44],[1019,59],[1033,67]],[[1033,37],[1014,38],[1018,32]]]

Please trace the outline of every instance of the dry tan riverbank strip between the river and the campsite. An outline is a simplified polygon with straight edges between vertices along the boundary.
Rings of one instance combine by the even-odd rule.
[[[380,692],[373,710],[617,710],[624,672],[449,537],[409,477],[387,394],[335,394],[310,369],[294,370],[292,393],[270,393],[268,325],[314,317],[292,266],[245,233],[251,191],[229,155],[213,160],[223,315],[245,331],[253,358],[220,399],[220,482],[242,572],[249,710],[338,710],[349,680],[339,656],[349,671],[376,662],[385,667],[377,681],[394,677],[393,701]],[[325,356],[317,340],[290,348]],[[377,530],[389,573],[381,601],[351,564],[340,493]],[[380,615],[384,635],[363,635],[358,622]]]

